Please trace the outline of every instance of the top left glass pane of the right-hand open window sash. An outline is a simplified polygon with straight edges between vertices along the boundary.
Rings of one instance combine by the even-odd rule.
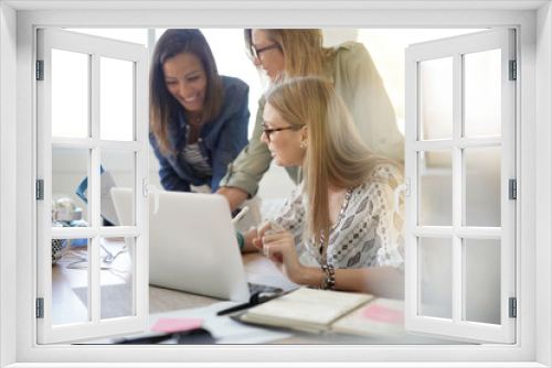
[[[453,138],[453,58],[420,63],[422,140]]]

